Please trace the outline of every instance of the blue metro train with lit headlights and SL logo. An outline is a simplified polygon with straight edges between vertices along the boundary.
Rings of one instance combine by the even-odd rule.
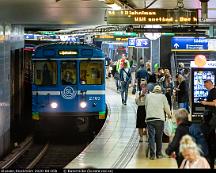
[[[48,43],[32,55],[35,133],[94,132],[106,118],[105,59],[101,49]]]

